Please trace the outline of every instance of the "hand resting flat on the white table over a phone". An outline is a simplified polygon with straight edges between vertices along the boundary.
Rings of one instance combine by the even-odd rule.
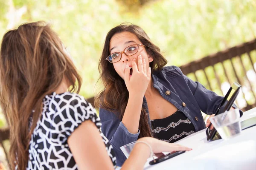
[[[182,146],[180,144],[168,143],[152,137],[143,137],[138,139],[138,141],[147,142],[151,146],[153,153],[192,150],[192,148]]]

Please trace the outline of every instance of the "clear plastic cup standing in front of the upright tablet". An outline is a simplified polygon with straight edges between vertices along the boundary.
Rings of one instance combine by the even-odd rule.
[[[210,121],[222,139],[229,139],[241,133],[239,109],[232,109],[211,117]]]

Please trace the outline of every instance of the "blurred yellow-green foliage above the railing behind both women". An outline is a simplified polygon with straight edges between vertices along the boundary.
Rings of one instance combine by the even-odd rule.
[[[51,23],[83,78],[80,94],[89,98],[101,89],[98,61],[114,26],[141,26],[167,65],[180,66],[254,39],[255,11],[255,0],[0,0],[0,40],[22,23]]]

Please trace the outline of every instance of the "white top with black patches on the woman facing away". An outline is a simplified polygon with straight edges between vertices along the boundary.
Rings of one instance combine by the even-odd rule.
[[[42,116],[29,143],[27,170],[77,170],[67,139],[82,122],[89,119],[100,131],[101,122],[95,109],[82,96],[70,92],[45,96]],[[116,157],[112,146],[101,131],[100,135],[115,168]]]

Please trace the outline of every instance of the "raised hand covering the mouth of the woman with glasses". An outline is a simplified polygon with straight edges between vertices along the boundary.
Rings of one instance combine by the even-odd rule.
[[[145,94],[148,83],[151,77],[151,68],[146,68],[145,59],[138,56],[138,65],[136,59],[132,61],[132,75],[130,77],[129,65],[125,68],[125,85],[130,95],[143,95]]]

